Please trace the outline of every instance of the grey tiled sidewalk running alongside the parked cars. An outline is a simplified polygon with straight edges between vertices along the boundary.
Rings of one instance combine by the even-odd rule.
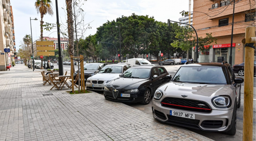
[[[24,65],[0,72],[0,141],[211,141],[101,94],[71,95],[42,84],[39,71]]]

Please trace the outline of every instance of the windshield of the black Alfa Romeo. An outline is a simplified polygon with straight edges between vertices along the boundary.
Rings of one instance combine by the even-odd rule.
[[[149,68],[129,68],[121,75],[121,77],[145,79],[145,78],[148,78],[149,75],[150,75]]]

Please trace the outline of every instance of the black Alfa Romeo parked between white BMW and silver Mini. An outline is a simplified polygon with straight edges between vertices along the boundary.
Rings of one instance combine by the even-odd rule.
[[[169,82],[171,75],[164,67],[131,67],[104,87],[105,99],[116,102],[149,104],[156,89]]]

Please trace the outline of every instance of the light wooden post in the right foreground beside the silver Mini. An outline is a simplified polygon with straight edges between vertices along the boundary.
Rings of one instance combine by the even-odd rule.
[[[255,37],[255,27],[245,28],[245,44]],[[253,131],[253,67],[254,49],[245,47],[244,106],[243,106],[243,141],[252,141]]]

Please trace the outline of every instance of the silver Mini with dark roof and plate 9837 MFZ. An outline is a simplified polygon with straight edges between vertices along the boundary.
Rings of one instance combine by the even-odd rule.
[[[186,63],[171,82],[154,93],[153,117],[179,126],[235,135],[241,83],[243,78],[236,78],[228,63]]]

